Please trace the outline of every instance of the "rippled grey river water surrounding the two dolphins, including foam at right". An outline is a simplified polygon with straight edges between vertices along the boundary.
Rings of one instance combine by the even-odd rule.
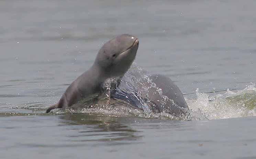
[[[256,1],[0,1],[1,158],[256,158]],[[55,112],[102,44],[169,76],[191,120]]]

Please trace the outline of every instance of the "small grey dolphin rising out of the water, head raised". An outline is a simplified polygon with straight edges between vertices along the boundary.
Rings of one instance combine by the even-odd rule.
[[[106,42],[86,72],[73,81],[57,104],[51,105],[46,113],[55,108],[66,109],[93,94],[101,93],[104,82],[112,77],[122,77],[133,63],[139,41],[132,35],[119,35]]]

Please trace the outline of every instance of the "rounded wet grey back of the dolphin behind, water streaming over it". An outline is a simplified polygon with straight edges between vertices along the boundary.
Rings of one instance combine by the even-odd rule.
[[[131,77],[124,76],[118,87],[112,89],[111,98],[125,101],[138,109],[144,109],[143,103],[146,103],[149,110],[154,113],[166,112],[176,117],[189,115],[189,108],[183,94],[169,77],[160,74],[148,75],[145,71],[142,74],[135,71],[131,75],[143,86],[129,83]],[[148,83],[144,78],[145,75],[151,82]],[[155,83],[156,87],[151,87],[152,83]],[[129,85],[132,85],[132,88]],[[158,92],[159,89],[162,90],[161,93]]]

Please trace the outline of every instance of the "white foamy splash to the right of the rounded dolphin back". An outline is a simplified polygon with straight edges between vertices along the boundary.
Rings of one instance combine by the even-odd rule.
[[[186,99],[192,116],[203,115],[208,119],[226,119],[256,116],[255,84],[237,92],[209,95],[196,90],[196,98]]]

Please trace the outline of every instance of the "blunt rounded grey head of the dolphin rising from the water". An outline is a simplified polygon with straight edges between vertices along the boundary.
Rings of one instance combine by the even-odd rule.
[[[132,35],[119,35],[106,42],[98,52],[94,65],[106,77],[123,76],[133,63],[139,41]]]

